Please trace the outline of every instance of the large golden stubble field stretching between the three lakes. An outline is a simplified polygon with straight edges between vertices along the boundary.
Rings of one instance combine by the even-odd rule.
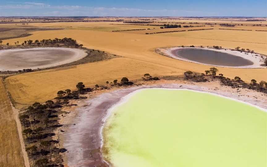
[[[37,24],[41,26],[41,23],[36,23],[35,26]],[[48,24],[44,23],[44,26],[48,26]],[[85,23],[80,24],[84,26]],[[109,23],[106,24],[108,24],[108,28],[111,26]],[[91,25],[92,23],[90,23]],[[62,26],[66,26],[66,23],[63,23]],[[80,25],[76,26],[79,27]],[[101,27],[103,26],[104,24]],[[107,51],[123,57],[102,62],[15,75],[6,78],[6,86],[16,106],[22,107],[32,104],[35,101],[45,102],[46,100],[52,99],[57,95],[57,91],[59,90],[65,90],[67,88],[75,89],[75,85],[80,81],[86,86],[89,86],[104,84],[106,81],[112,82],[114,79],[120,79],[124,76],[129,79],[138,79],[144,73],[150,73],[154,76],[182,75],[185,71],[190,70],[202,73],[210,68],[210,66],[184,62],[159,55],[155,53],[155,49],[159,47],[218,45],[232,49],[235,47],[249,48],[255,52],[267,55],[266,32],[257,32],[261,34],[255,35],[255,32],[251,33],[249,31],[214,30],[216,31],[214,36],[213,32],[209,33],[205,31],[208,30],[184,32],[185,34],[182,36],[178,35],[181,32],[177,32],[177,34],[144,35],[127,32],[80,30],[80,28],[78,30],[36,31],[33,32],[32,36],[19,38],[19,41],[68,37],[76,39],[84,47]],[[203,39],[203,36],[206,39]],[[14,43],[17,40],[9,39],[4,42]],[[239,76],[246,82],[250,82],[251,79],[256,79],[258,82],[267,80],[267,69],[221,67],[218,67],[218,69],[219,73],[224,74],[226,77],[234,78],[235,76]]]

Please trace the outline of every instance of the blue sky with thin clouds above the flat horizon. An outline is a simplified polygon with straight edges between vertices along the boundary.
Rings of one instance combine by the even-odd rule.
[[[0,0],[0,16],[266,17],[266,0]]]

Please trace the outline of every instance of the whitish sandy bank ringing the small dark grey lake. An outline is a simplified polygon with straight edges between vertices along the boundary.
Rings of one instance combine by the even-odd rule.
[[[247,65],[247,66],[236,66],[236,67],[233,67],[233,66],[221,66],[221,65],[200,63],[200,62],[189,60],[189,59],[183,58],[182,56],[174,54],[174,51],[182,50],[182,49],[190,49],[190,48],[192,49],[192,47],[170,47],[170,48],[159,48],[158,50],[163,55],[172,57],[174,59],[179,59],[179,60],[191,62],[191,63],[212,65],[212,66],[216,66],[216,67],[228,67],[228,68],[266,68],[266,66],[261,66],[261,64],[264,64],[264,58],[262,58],[262,55],[256,54],[256,53],[247,53],[246,54],[246,52],[232,51],[230,49],[214,49],[214,48],[206,48],[206,47],[203,47],[203,48],[193,47],[194,49],[210,50],[210,51],[216,51],[216,52],[222,52],[222,53],[235,55],[235,56],[247,59],[247,60],[253,62],[253,64],[252,65]]]

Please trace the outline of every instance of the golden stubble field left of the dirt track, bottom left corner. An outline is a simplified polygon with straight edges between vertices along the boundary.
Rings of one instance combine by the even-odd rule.
[[[24,160],[14,114],[0,81],[0,167],[22,167]]]

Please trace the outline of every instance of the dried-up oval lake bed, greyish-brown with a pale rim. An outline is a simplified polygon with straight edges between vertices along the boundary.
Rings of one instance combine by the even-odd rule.
[[[64,47],[6,49],[0,51],[0,71],[53,67],[77,61],[86,55],[82,49]]]

